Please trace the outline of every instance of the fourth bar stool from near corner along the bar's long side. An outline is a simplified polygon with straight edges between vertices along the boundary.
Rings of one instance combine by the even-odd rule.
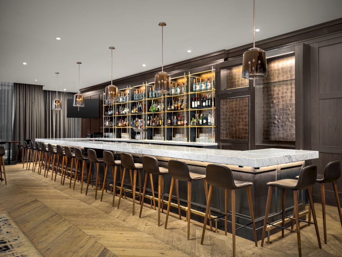
[[[121,159],[121,165],[123,167],[123,174],[122,174],[122,179],[121,179],[121,188],[120,188],[120,195],[119,195],[119,201],[118,201],[118,209],[120,206],[120,200],[121,200],[121,196],[122,196],[123,183],[124,183],[124,179],[125,179],[126,170],[129,170],[130,179],[131,179],[131,186],[132,186],[132,191],[129,191],[129,192],[132,192],[132,194],[133,194],[132,195],[132,198],[133,198],[132,215],[134,215],[136,171],[139,172],[139,196],[138,197],[140,197],[141,196],[141,169],[143,168],[143,164],[142,163],[134,163],[133,156],[131,154],[126,153],[126,152],[121,153],[120,159]],[[132,180],[132,170],[134,172],[133,180]]]

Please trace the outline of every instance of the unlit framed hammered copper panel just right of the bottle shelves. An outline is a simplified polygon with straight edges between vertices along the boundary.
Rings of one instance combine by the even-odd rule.
[[[249,97],[221,100],[221,139],[249,139]]]

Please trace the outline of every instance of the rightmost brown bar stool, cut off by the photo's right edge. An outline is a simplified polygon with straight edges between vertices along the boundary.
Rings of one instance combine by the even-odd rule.
[[[340,199],[338,195],[336,181],[341,176],[341,163],[339,161],[329,162],[325,166],[324,174],[317,174],[316,182],[320,184],[321,188],[321,197],[322,197],[322,212],[323,212],[323,229],[324,229],[324,243],[327,243],[327,224],[326,224],[326,215],[325,215],[325,184],[332,183],[334,188],[336,204],[339,211],[340,222],[342,227],[342,213],[341,213],[341,205]]]

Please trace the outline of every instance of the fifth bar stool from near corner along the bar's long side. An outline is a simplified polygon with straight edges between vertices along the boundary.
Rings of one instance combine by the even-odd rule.
[[[117,171],[118,171],[118,167],[121,167],[121,161],[116,161],[114,159],[114,155],[113,152],[111,151],[103,151],[103,162],[105,164],[105,174],[104,174],[104,178],[103,178],[103,186],[102,186],[102,193],[101,193],[101,201],[102,201],[102,197],[103,197],[103,191],[106,187],[106,192],[107,192],[107,184],[111,184],[111,183],[107,183],[107,172],[108,172],[108,167],[111,167],[111,173],[113,176],[113,204],[112,206],[114,207],[114,199],[115,199],[115,194],[116,194],[116,178],[117,178]],[[114,169],[113,169],[114,167]],[[121,168],[120,168],[121,170]]]

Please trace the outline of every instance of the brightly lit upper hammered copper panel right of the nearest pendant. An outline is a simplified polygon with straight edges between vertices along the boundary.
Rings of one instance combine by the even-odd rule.
[[[294,79],[294,56],[276,60],[267,60],[267,77],[262,83]]]

